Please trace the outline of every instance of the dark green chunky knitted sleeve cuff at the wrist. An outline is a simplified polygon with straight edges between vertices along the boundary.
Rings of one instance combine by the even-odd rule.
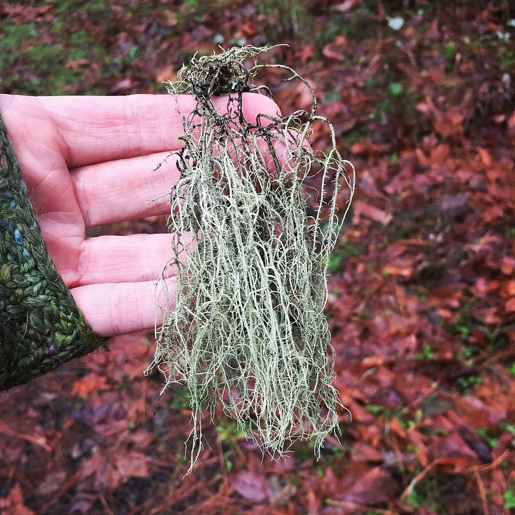
[[[106,341],[93,333],[48,255],[0,116],[0,390]]]

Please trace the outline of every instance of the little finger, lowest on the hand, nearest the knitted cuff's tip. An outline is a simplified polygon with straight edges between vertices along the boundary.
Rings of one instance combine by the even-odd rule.
[[[167,280],[166,295],[161,283],[156,285],[156,281],[90,284],[70,291],[93,332],[99,336],[148,331],[155,327],[156,321],[159,327],[163,314],[175,308],[173,279]]]

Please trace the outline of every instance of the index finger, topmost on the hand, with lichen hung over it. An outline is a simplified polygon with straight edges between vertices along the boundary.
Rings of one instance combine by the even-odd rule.
[[[61,138],[68,167],[178,150],[182,116],[197,104],[192,95],[39,97]],[[227,97],[213,97],[220,112]],[[245,118],[254,123],[260,113],[277,115],[277,105],[264,95],[245,93]]]

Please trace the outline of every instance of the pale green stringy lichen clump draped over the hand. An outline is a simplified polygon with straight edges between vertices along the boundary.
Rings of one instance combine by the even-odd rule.
[[[194,94],[198,104],[183,118],[181,179],[170,197],[176,307],[156,332],[153,365],[166,385],[185,381],[190,390],[191,466],[201,449],[202,409],[213,414],[216,403],[276,455],[312,437],[319,452],[338,427],[323,308],[329,253],[352,198],[354,169],[341,159],[330,124],[327,153],[307,144],[311,124],[327,122],[315,114],[315,98],[311,113],[244,119],[243,93],[263,90],[249,80],[271,66],[256,61],[265,50],[194,57],[169,84],[169,93]],[[250,70],[247,58],[254,59]],[[217,113],[212,95],[229,95],[228,113]],[[304,181],[314,174],[321,187],[306,195]],[[311,215],[307,197],[316,202]],[[346,201],[338,220],[337,202]]]

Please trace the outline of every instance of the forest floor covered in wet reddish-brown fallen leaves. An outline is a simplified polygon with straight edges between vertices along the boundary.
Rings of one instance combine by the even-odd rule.
[[[151,335],[0,394],[0,513],[507,514],[515,509],[515,12],[509,2],[0,2],[0,90],[164,93],[218,44],[313,85],[356,167],[327,316],[346,411],[264,458],[230,419],[191,426],[177,387],[144,376]],[[301,83],[263,77],[287,114]],[[320,128],[312,145],[324,149]],[[103,227],[165,230],[164,218]]]

